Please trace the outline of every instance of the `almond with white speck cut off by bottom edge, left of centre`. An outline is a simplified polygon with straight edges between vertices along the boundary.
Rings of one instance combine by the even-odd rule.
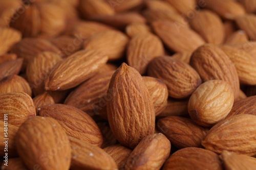
[[[69,140],[72,148],[71,170],[118,169],[113,158],[101,148],[73,137]]]

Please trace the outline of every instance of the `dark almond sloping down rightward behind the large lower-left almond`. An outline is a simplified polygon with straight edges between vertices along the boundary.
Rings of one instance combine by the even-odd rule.
[[[42,106],[40,116],[52,117],[58,121],[69,136],[87,141],[100,147],[102,135],[94,120],[83,111],[68,105]]]

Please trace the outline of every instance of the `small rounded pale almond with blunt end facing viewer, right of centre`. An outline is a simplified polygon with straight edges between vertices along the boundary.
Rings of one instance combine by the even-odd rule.
[[[234,102],[231,86],[222,80],[201,84],[190,96],[188,113],[198,125],[209,127],[224,119]]]

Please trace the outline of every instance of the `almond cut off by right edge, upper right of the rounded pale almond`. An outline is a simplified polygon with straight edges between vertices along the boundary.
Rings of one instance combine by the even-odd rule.
[[[236,67],[240,83],[256,85],[256,58],[245,51],[227,45],[221,46],[221,50]]]

